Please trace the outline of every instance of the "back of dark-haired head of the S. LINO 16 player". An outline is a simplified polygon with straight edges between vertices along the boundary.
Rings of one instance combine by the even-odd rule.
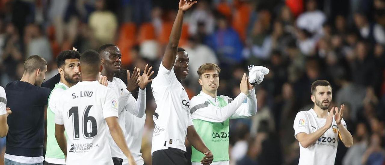
[[[102,62],[99,53],[94,50],[87,50],[80,56],[80,67],[82,67],[82,73],[98,73],[100,65],[102,65]]]

